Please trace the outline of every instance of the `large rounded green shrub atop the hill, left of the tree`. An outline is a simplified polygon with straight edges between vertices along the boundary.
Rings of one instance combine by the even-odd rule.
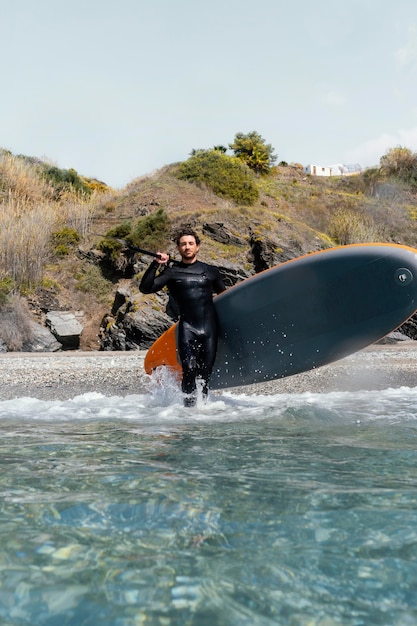
[[[204,184],[215,194],[251,206],[259,197],[255,177],[237,157],[219,150],[198,150],[179,166],[178,178]]]

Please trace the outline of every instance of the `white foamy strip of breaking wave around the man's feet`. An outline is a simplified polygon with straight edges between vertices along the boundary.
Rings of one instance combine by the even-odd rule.
[[[233,391],[211,392],[205,403],[183,406],[178,384],[164,380],[144,394],[105,396],[90,392],[69,400],[30,397],[0,401],[2,420],[133,420],[145,425],[181,424],[190,421],[317,420],[354,423],[389,420],[417,421],[417,387],[383,391],[332,392],[327,394],[246,395]]]

